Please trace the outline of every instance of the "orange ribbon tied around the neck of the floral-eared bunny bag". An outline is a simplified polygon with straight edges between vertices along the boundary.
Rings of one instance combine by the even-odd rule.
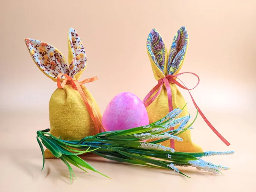
[[[61,83],[61,76],[66,77],[66,79],[64,79],[62,81],[62,83]],[[81,98],[82,98],[82,100],[83,100],[83,102],[84,102],[84,104],[87,108],[87,111],[90,114],[90,117],[93,119],[94,124],[98,128],[98,133],[99,133],[99,132],[101,132],[101,127],[99,126],[99,124],[102,126],[102,129],[104,131],[105,131],[105,129],[104,129],[102,123],[101,123],[101,120],[99,118],[99,115],[98,115],[96,109],[93,106],[93,102],[90,100],[90,97],[87,95],[87,93],[85,93],[85,91],[81,87],[82,84],[90,83],[90,82],[93,82],[93,81],[96,81],[96,80],[98,80],[98,78],[95,76],[95,77],[92,77],[92,78],[84,79],[82,81],[77,81],[76,79],[73,79],[72,77],[68,76],[67,74],[60,73],[57,76],[57,86],[58,86],[58,88],[63,89],[66,84],[70,84],[71,87],[74,90],[78,90],[78,92],[79,92],[79,94],[80,94],[80,96],[81,96]]]

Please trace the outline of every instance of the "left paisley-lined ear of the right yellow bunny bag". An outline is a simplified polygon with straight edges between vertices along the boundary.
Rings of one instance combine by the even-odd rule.
[[[167,52],[163,38],[156,29],[152,29],[148,35],[147,49],[151,60],[164,73]]]

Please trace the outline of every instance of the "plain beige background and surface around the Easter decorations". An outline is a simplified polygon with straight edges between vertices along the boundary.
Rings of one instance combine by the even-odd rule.
[[[255,191],[255,44],[254,0],[0,1],[0,191]],[[193,140],[208,150],[235,150],[232,156],[212,157],[229,166],[224,175],[183,168],[192,177],[131,165],[103,163],[86,157],[112,177],[81,173],[70,186],[66,166],[47,160],[41,172],[41,152],[35,133],[49,127],[48,102],[56,84],[35,66],[24,38],[45,41],[67,55],[67,32],[76,29],[88,66],[82,79],[103,113],[108,102],[124,91],[143,99],[156,84],[146,52],[146,39],[156,28],[171,46],[180,26],[186,26],[189,48],[181,72],[201,78],[192,90],[210,122],[230,141],[229,147],[207,127],[195,122]],[[67,56],[66,56],[67,57]],[[183,76],[192,87],[196,79]],[[190,113],[195,108],[185,90]],[[68,115],[68,114],[67,114]]]

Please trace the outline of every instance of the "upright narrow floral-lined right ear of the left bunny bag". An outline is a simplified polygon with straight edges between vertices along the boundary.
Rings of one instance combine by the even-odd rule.
[[[87,58],[81,39],[73,28],[68,32],[68,62],[69,76],[79,79],[87,66]]]

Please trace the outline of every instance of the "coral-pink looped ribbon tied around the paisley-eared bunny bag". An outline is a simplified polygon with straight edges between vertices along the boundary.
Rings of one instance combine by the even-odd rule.
[[[178,78],[178,76],[185,74],[185,73],[189,73],[192,74],[194,76],[196,76],[198,78],[198,83],[195,85],[195,87],[198,86],[200,79],[199,76],[195,73],[190,73],[190,72],[184,72],[184,73],[178,73],[177,75],[167,75],[162,79],[158,80],[158,84],[145,96],[145,98],[143,99],[143,103],[145,105],[145,107],[148,107],[148,105],[150,105],[156,98],[157,96],[160,94],[163,85],[166,87],[167,90],[167,97],[168,97],[168,106],[169,106],[169,112],[173,110],[172,108],[172,90],[170,87],[170,83],[171,84],[176,84],[178,87],[188,90],[189,95],[192,99],[193,104],[195,105],[195,108],[198,109],[198,113],[202,116],[202,118],[204,119],[204,121],[207,123],[207,125],[209,126],[209,128],[212,129],[212,131],[221,139],[221,141],[223,143],[225,143],[227,146],[230,145],[230,143],[213,127],[213,125],[209,122],[209,120],[206,118],[206,116],[204,116],[204,113],[201,111],[201,109],[198,107],[198,105],[195,103],[195,100],[193,98],[193,96],[191,95],[189,90],[195,89],[195,87],[193,88],[188,88],[186,87],[186,85]],[[180,82],[178,82],[176,79],[178,79]],[[171,128],[172,130],[173,128]],[[174,148],[174,140],[171,140],[171,147]]]

